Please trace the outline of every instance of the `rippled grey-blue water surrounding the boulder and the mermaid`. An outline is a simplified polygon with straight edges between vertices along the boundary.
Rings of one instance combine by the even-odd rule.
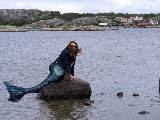
[[[19,102],[7,101],[3,81],[23,87],[37,85],[72,39],[83,49],[75,74],[90,83],[94,103],[46,102],[38,100],[37,94],[27,94]],[[159,78],[158,28],[0,33],[0,120],[159,120]],[[117,97],[118,92],[124,96]],[[141,111],[149,114],[138,114]]]

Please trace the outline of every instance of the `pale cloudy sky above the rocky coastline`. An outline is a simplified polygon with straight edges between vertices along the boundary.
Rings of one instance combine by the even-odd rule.
[[[0,0],[0,9],[39,9],[61,13],[160,13],[160,0]]]

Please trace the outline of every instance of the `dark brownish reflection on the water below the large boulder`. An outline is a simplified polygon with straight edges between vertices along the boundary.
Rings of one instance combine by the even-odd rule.
[[[79,120],[87,119],[87,109],[91,106],[85,105],[85,102],[90,102],[90,100],[55,100],[55,101],[45,101],[40,103],[42,108],[48,108],[46,111],[42,109],[40,112],[42,116],[46,116],[51,119],[69,119],[69,120]],[[49,112],[46,113],[46,112]]]

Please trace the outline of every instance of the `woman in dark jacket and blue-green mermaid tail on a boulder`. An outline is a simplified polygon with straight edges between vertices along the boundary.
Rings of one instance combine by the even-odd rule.
[[[51,83],[58,82],[62,79],[76,79],[76,77],[74,76],[74,65],[78,53],[81,53],[81,48],[78,47],[78,44],[75,41],[71,41],[61,52],[59,57],[49,66],[50,74],[48,75],[48,77],[43,82],[34,87],[23,88],[13,86],[7,81],[3,82],[10,94],[10,98],[8,100],[20,100],[25,94],[38,93],[45,86]]]

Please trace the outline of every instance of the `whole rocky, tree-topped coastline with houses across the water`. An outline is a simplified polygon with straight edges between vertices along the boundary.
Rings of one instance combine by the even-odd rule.
[[[160,28],[159,15],[140,15],[134,20],[132,14],[111,13],[63,13],[38,9],[0,9],[0,32],[26,31],[105,31],[119,28]],[[139,16],[138,14],[136,16]],[[132,17],[132,19],[131,19]],[[131,19],[123,21],[122,18]],[[153,24],[153,20],[157,22]],[[150,21],[148,21],[150,20]],[[148,21],[148,22],[146,22]],[[146,23],[145,23],[146,22]],[[10,26],[9,26],[10,25]],[[110,28],[108,28],[110,27]],[[114,28],[113,28],[114,27]],[[118,28],[117,28],[118,27]]]

